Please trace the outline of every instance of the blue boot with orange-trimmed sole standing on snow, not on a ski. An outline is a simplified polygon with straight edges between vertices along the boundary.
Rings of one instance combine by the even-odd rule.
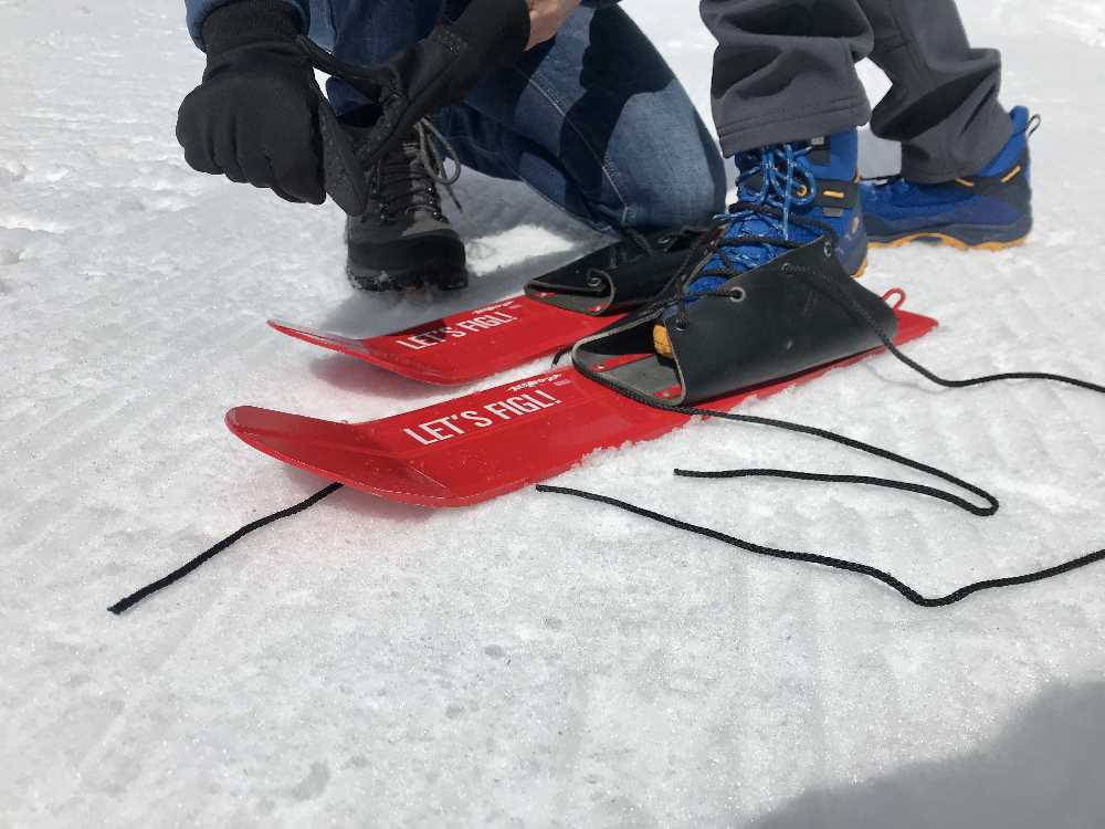
[[[938,185],[896,177],[860,188],[867,235],[874,248],[908,242],[949,244],[960,250],[1004,250],[1032,230],[1029,136],[1039,117],[1019,106],[1011,113],[1013,136],[977,175]]]

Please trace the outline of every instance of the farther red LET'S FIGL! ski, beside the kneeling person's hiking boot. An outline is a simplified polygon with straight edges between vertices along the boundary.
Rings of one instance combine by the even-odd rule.
[[[367,339],[270,321],[282,334],[347,354],[412,380],[459,386],[539,359],[619,316],[590,316],[514,296],[413,328]]]

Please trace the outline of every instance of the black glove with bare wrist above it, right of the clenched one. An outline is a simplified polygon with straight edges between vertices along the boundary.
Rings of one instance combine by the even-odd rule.
[[[487,74],[513,64],[528,41],[527,0],[472,0],[455,23],[438,25],[425,40],[378,66],[344,63],[298,39],[315,66],[349,83],[368,97],[366,109],[376,109],[375,123],[358,137],[367,165],[393,149],[415,123],[463,101]],[[361,125],[364,112],[358,113]]]

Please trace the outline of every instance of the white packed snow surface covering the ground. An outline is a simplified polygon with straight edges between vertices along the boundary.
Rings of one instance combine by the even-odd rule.
[[[466,176],[472,290],[432,307],[352,293],[335,208],[186,168],[172,126],[201,60],[179,6],[0,0],[0,826],[1105,826],[1105,567],[922,610],[532,491],[459,512],[347,491],[108,615],[319,487],[232,438],[229,407],[367,419],[445,396],[267,316],[380,333],[597,241]],[[627,8],[706,112],[695,15]],[[1006,51],[1007,102],[1045,117],[1039,230],[1003,254],[875,252],[867,284],[941,318],[911,354],[948,374],[1101,379],[1102,7],[964,12]],[[756,412],[947,465],[1004,510],[673,481],[676,464],[892,471],[724,423],[560,481],[929,594],[1102,546],[1090,395],[948,392],[881,359]]]

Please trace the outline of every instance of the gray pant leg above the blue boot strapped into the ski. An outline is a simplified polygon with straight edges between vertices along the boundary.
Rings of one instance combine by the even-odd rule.
[[[702,0],[699,10],[718,42],[712,93],[726,156],[871,117],[855,63],[873,35],[856,0]]]

